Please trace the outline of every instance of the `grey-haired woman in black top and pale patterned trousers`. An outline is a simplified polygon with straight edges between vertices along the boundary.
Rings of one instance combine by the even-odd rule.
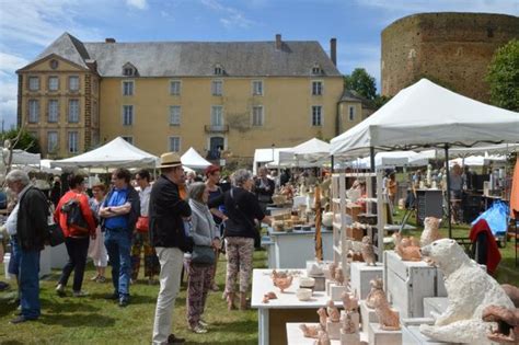
[[[235,309],[235,281],[240,274],[240,309],[246,309],[246,294],[252,274],[252,255],[254,253],[254,238],[256,221],[270,225],[270,218],[263,212],[257,198],[251,193],[254,181],[252,173],[240,169],[232,175],[230,191],[209,202],[209,208],[226,206],[226,252],[227,279],[226,294],[228,309]]]

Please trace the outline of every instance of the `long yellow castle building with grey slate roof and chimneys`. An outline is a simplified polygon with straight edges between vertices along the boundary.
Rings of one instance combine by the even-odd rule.
[[[18,125],[66,158],[116,136],[154,154],[250,159],[366,117],[318,42],[83,43],[65,33],[18,70]],[[364,114],[365,113],[365,114]],[[347,115],[346,115],[347,114]],[[341,120],[344,117],[345,120]]]

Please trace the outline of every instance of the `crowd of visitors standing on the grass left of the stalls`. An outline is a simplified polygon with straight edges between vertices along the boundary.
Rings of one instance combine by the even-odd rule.
[[[146,281],[160,285],[153,344],[184,342],[171,330],[183,268],[188,275],[187,324],[194,333],[208,332],[203,315],[209,291],[218,290],[215,275],[221,252],[227,256],[223,297],[228,309],[250,307],[254,242],[260,225],[270,223],[265,208],[272,203],[275,182],[265,169],[257,179],[240,169],[229,186],[216,165],[209,166],[200,181],[196,174],[185,174],[174,152],[161,156],[159,170],[160,175],[151,181],[147,170],[131,174],[116,169],[109,188],[96,182],[91,197],[88,179],[81,174],[69,175],[67,183],[61,183],[69,191],[51,193],[51,197],[33,186],[24,171],[7,175],[15,196],[5,222],[12,250],[9,274],[16,277],[20,299],[20,312],[11,323],[41,315],[39,253],[48,244],[49,219],[62,230],[68,254],[56,285],[58,296],[88,295],[82,285],[90,257],[95,267],[93,281],[105,283],[106,267],[112,266],[113,292],[107,298],[124,308],[131,303],[130,286],[138,283],[143,260]]]

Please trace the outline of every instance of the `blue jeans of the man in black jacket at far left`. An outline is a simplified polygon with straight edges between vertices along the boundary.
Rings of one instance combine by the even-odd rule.
[[[25,319],[37,319],[39,310],[39,251],[20,249],[20,304]]]

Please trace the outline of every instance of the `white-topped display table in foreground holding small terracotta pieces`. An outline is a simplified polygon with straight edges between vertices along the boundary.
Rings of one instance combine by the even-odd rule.
[[[286,344],[287,322],[319,322],[318,309],[325,307],[330,297],[324,291],[313,292],[309,301],[296,297],[299,276],[305,276],[305,269],[289,269],[301,273],[293,277],[292,285],[284,294],[273,285],[272,269],[254,269],[252,275],[251,307],[257,309],[258,344]],[[274,291],[277,299],[263,303],[263,296]],[[342,302],[335,302],[342,307]]]

